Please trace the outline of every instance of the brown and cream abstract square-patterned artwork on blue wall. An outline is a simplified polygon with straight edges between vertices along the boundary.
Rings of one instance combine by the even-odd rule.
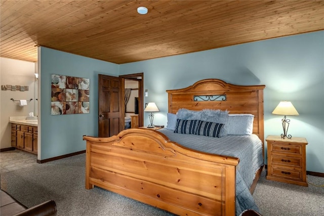
[[[52,74],[51,114],[79,114],[90,112],[90,79]]]

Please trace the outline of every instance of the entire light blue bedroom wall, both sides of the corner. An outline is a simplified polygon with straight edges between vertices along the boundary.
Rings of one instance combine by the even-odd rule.
[[[265,84],[265,137],[281,134],[281,117],[271,112],[280,100],[292,101],[289,134],[308,140],[307,170],[324,172],[324,31],[281,37],[226,48],[116,65],[47,48],[41,56],[41,159],[85,150],[83,135],[98,134],[98,74],[144,72],[144,103],[155,102],[155,124],[167,123],[166,90],[218,78],[233,84]],[[90,78],[90,114],[52,116],[51,74]],[[144,113],[145,124],[148,117]]]

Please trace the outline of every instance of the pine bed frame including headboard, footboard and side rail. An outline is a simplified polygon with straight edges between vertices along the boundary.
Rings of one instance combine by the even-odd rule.
[[[253,133],[264,142],[264,88],[201,80],[185,89],[167,91],[169,112],[187,108],[251,113],[255,115]],[[226,100],[215,101],[216,95],[225,95]],[[195,96],[203,101],[196,101]],[[83,139],[87,141],[87,189],[98,186],[179,215],[235,215],[238,158],[194,151],[145,128]]]

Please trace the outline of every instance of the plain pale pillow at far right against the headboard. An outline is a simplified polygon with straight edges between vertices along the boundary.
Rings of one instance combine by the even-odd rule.
[[[228,114],[225,124],[227,135],[251,135],[253,133],[252,114]]]

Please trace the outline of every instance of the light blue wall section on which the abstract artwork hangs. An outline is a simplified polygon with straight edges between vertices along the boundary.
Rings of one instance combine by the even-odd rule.
[[[119,65],[43,47],[38,49],[38,61],[41,74],[41,158],[38,159],[85,150],[83,135],[98,136],[98,74],[118,76]],[[90,78],[89,114],[51,115],[51,74]]]

